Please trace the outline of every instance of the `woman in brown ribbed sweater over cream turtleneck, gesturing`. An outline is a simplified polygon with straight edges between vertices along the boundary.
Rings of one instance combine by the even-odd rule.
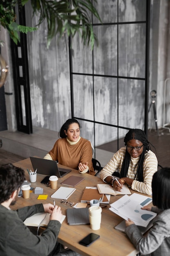
[[[91,142],[80,137],[80,124],[76,119],[68,119],[60,129],[53,149],[44,159],[55,160],[59,164],[76,169],[79,173],[95,175],[92,164]]]

